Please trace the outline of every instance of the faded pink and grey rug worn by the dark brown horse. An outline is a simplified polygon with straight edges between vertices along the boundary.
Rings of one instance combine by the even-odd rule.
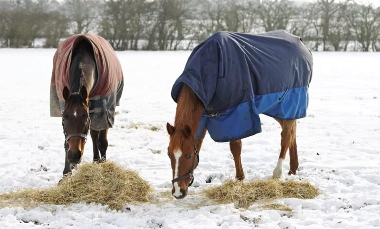
[[[67,38],[57,48],[53,58],[50,86],[50,116],[61,117],[64,105],[63,88],[70,88],[69,69],[76,45],[87,40],[94,49],[97,82],[89,94],[91,129],[110,128],[114,124],[115,107],[123,91],[124,78],[114,49],[104,38],[92,34],[77,34]]]

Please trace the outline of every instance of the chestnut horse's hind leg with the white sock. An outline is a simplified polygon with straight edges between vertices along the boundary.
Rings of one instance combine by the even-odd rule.
[[[283,162],[285,160],[287,149],[289,148],[292,139],[294,136],[292,136],[292,129],[296,122],[296,120],[279,120],[276,119],[282,128],[281,132],[281,151],[280,156],[277,161],[277,166],[273,171],[273,179],[279,179],[282,176],[283,173]]]

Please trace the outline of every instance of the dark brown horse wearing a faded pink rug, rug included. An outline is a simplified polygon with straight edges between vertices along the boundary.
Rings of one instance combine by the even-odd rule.
[[[74,35],[58,47],[53,58],[50,108],[51,116],[62,116],[63,176],[81,162],[88,132],[93,142],[93,161],[106,160],[108,128],[114,123],[114,109],[122,89],[120,62],[104,38]]]

